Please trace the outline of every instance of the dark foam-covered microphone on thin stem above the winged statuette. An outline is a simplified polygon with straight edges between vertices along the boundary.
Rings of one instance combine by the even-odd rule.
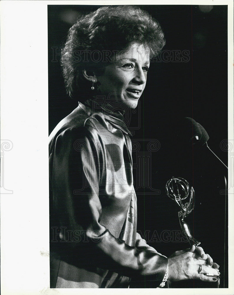
[[[220,158],[207,145],[207,141],[209,140],[210,137],[201,124],[197,123],[192,118],[185,117],[184,122],[182,124],[182,132],[183,132],[184,140],[187,141],[189,139],[189,142],[192,142],[192,144],[194,146],[197,146],[198,148],[206,144],[207,148],[215,155],[216,158],[220,160]],[[221,160],[220,162],[226,168],[228,168],[228,166],[226,166]]]

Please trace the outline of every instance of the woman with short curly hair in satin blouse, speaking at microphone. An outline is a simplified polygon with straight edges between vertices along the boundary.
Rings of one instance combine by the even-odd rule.
[[[166,258],[136,232],[123,114],[137,106],[164,44],[156,20],[131,6],[101,7],[69,31],[63,75],[79,103],[50,135],[51,288],[125,288],[131,278],[162,287],[167,279],[216,279],[201,270],[219,275],[202,248]]]

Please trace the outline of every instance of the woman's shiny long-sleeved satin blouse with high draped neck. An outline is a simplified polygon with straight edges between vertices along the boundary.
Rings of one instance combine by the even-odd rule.
[[[91,103],[50,135],[51,288],[159,285],[168,262],[136,231],[131,134],[120,112]]]

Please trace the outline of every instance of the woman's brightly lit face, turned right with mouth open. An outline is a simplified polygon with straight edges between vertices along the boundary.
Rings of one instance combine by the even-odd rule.
[[[133,43],[105,67],[104,74],[97,76],[99,90],[107,98],[111,94],[115,101],[135,109],[145,89],[149,65],[149,50]]]

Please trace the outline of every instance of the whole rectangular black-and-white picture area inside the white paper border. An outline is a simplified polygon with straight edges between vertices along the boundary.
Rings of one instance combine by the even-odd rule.
[[[227,6],[48,5],[48,53],[51,288],[228,287]]]

